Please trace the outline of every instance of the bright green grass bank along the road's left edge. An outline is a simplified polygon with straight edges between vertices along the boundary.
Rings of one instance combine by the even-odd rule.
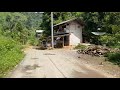
[[[22,48],[18,42],[0,36],[0,77],[5,77],[23,59]]]

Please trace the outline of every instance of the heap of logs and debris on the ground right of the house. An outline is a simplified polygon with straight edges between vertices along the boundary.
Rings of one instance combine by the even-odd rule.
[[[78,54],[88,54],[92,56],[103,56],[108,52],[120,52],[120,49],[111,49],[104,46],[91,45],[85,49],[80,49],[77,51]]]

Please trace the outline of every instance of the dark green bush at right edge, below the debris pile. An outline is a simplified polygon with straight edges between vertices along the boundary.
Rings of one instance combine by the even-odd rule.
[[[117,65],[120,65],[120,52],[111,52],[105,55],[107,59]]]

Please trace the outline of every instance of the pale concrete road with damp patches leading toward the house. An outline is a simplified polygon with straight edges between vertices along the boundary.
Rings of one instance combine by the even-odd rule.
[[[30,49],[9,78],[107,78],[88,66],[75,50]]]

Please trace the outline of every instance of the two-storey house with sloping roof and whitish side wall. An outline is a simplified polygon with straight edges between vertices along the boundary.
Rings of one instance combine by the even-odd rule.
[[[84,23],[80,19],[70,19],[54,25],[54,43],[61,43],[62,47],[82,43],[83,27]]]

